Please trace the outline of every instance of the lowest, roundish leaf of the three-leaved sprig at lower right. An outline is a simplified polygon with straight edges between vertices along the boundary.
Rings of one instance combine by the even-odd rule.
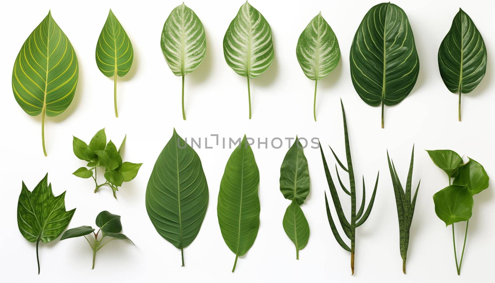
[[[467,186],[450,185],[433,195],[435,213],[446,226],[467,221],[473,213],[473,196]]]

